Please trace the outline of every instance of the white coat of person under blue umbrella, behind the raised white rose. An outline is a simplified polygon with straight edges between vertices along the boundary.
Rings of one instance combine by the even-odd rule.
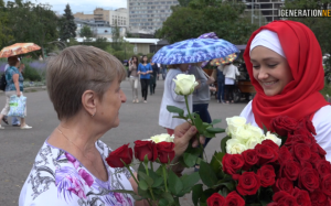
[[[184,96],[180,96],[174,93],[175,84],[173,79],[179,74],[183,74],[179,68],[169,69],[167,78],[164,80],[164,91],[160,107],[159,124],[168,129],[174,129],[177,126],[185,122],[185,120],[172,118],[173,116],[178,116],[178,113],[169,112],[167,110],[167,106],[175,106],[183,109],[184,115],[188,113]],[[192,95],[189,96],[188,100],[190,112],[192,112]]]

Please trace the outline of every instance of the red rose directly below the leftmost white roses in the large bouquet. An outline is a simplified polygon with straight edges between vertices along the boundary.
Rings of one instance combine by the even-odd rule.
[[[244,159],[241,154],[225,154],[222,160],[223,170],[227,174],[235,174],[244,165]]]

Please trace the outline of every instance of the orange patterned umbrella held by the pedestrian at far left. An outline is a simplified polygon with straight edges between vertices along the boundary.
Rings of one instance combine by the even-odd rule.
[[[17,43],[2,48],[0,51],[0,58],[25,54],[38,50],[41,50],[41,47],[34,43]]]

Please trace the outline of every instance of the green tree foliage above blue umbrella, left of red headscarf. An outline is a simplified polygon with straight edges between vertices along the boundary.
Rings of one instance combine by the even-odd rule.
[[[183,4],[188,3],[181,2]],[[246,44],[257,25],[241,18],[243,3],[220,0],[192,0],[188,7],[173,7],[171,17],[157,31],[157,36],[170,43],[197,37],[203,33],[215,32],[218,37],[234,44]]]

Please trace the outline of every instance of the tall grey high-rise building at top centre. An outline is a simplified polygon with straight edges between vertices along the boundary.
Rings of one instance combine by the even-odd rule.
[[[129,32],[154,33],[171,15],[177,0],[127,0],[129,10]]]

